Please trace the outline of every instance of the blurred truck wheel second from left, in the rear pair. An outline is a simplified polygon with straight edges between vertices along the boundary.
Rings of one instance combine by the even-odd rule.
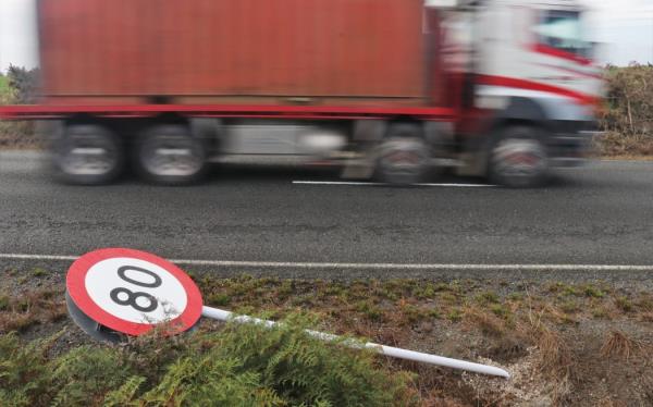
[[[207,149],[184,125],[156,125],[136,148],[141,176],[155,184],[181,186],[200,180],[207,168]]]

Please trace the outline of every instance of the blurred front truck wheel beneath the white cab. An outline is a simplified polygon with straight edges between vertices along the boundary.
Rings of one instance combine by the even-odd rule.
[[[540,186],[549,173],[546,147],[535,128],[506,128],[490,151],[490,181],[510,188]]]

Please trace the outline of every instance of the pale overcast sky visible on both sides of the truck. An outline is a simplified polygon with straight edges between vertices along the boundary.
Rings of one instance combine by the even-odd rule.
[[[588,14],[589,39],[604,44],[600,61],[653,63],[653,0],[579,0]],[[10,63],[38,64],[35,0],[0,0],[0,71]]]

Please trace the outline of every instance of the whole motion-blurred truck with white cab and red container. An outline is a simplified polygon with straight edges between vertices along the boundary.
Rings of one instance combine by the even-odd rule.
[[[575,0],[38,0],[35,120],[65,182],[279,158],[542,185],[586,158],[601,70]]]

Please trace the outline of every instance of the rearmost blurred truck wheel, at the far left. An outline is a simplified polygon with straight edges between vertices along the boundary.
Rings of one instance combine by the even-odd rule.
[[[73,124],[52,145],[58,176],[70,184],[102,185],[114,181],[125,163],[121,139],[109,128]]]

